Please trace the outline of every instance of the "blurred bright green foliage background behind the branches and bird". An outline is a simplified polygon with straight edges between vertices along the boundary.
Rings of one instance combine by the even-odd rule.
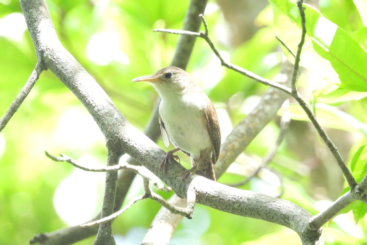
[[[234,2],[228,1],[228,4]],[[188,4],[188,0],[47,1],[62,44],[109,94],[121,113],[141,130],[150,116],[157,93],[149,84],[132,84],[130,81],[170,64],[179,37],[152,30],[181,29]],[[347,35],[361,30],[357,42],[366,43],[364,26],[352,1],[321,0],[320,12],[344,29]],[[0,1],[1,115],[36,64],[32,40],[21,13],[18,1]],[[251,21],[251,24],[258,25],[257,32],[237,47],[228,44],[231,35],[237,33],[228,33],[229,24],[215,1],[209,2],[205,17],[212,40],[231,62],[272,79],[279,71],[282,54],[274,38],[276,30],[270,15],[272,11],[268,6],[255,22]],[[246,30],[238,30],[241,31]],[[343,50],[340,48],[339,51]],[[340,55],[343,57],[344,54]],[[187,70],[217,109],[223,112],[222,115],[230,119],[222,131],[236,125],[267,89],[222,68],[203,40],[197,40]],[[353,80],[349,82],[353,84]],[[299,86],[306,99],[318,104],[316,114],[322,119],[323,126],[329,127],[328,133],[345,159],[349,159],[355,169],[358,167],[359,174],[361,171],[365,174],[364,158],[353,156],[355,152],[361,155],[358,149],[366,144],[367,99],[360,94],[348,94],[342,103],[341,99],[335,102],[335,97],[340,98],[349,91],[326,93],[324,88],[328,83],[309,72],[302,74]],[[317,93],[313,94],[314,91]],[[333,109],[324,103],[333,105]],[[336,104],[340,107],[334,107]],[[340,194],[344,178],[327,148],[316,140],[312,127],[302,122],[308,119],[299,107],[291,104],[290,111],[294,119],[290,132],[270,167],[283,176],[282,198],[316,214],[330,206]],[[278,133],[275,120],[249,145],[247,156],[241,156],[219,182],[236,183],[251,175],[246,166],[260,161]],[[161,140],[158,144],[166,149]],[[63,152],[84,164],[103,166],[106,158],[104,145],[103,135],[86,109],[55,75],[43,72],[30,95],[0,133],[0,230],[3,234],[0,244],[26,244],[34,234],[83,223],[96,215],[103,197],[103,174],[81,173],[66,163],[52,162],[44,151],[54,155]],[[181,159],[187,167],[188,159],[185,156]],[[264,171],[240,188],[277,195],[280,184],[276,176]],[[127,201],[141,193],[142,183],[138,178]],[[164,198],[172,194],[158,193]],[[78,210],[65,208],[76,202],[80,205],[75,205]],[[86,207],[88,212],[82,216],[81,211]],[[159,208],[154,201],[144,200],[118,217],[113,224],[117,243],[139,244]],[[349,212],[325,226],[326,244],[366,244],[363,241],[367,239],[367,220],[358,212],[363,208],[366,205],[354,206],[353,212],[359,215],[357,225]],[[81,220],[78,220],[78,213]],[[91,244],[93,240],[91,237],[77,244]],[[259,245],[270,242],[300,244],[297,234],[287,228],[197,205],[193,219],[182,221],[171,244]]]

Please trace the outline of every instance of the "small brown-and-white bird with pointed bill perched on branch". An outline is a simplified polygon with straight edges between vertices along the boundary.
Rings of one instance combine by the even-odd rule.
[[[150,82],[161,97],[159,123],[166,147],[171,142],[176,147],[168,151],[160,169],[166,174],[172,158],[179,161],[177,151],[190,156],[191,169],[182,172],[182,180],[196,173],[216,181],[213,165],[221,147],[221,131],[214,105],[192,77],[181,68],[168,66],[150,76],[140,76],[131,82]]]

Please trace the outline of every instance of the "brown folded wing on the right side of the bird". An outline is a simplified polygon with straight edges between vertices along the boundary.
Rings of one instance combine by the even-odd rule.
[[[208,98],[208,107],[205,110],[205,120],[209,133],[210,143],[212,147],[211,160],[215,164],[218,160],[219,152],[221,150],[221,130],[219,129],[217,112],[213,103]]]

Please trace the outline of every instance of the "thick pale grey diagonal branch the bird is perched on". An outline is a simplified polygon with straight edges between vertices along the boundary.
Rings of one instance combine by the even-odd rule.
[[[61,46],[52,22],[46,24],[51,20],[44,1],[28,0],[21,1],[21,4],[32,40],[35,43],[37,57],[61,79],[65,86],[73,91],[88,109],[105,135],[108,149],[113,151],[114,156],[128,152],[170,185],[180,197],[187,196],[186,190],[191,183],[191,187],[195,190],[196,201],[199,203],[225,212],[284,225],[295,230],[303,241],[319,239],[319,233],[306,232],[304,225],[307,223],[306,220],[310,219],[310,214],[292,202],[226,187],[197,175],[189,176],[186,180],[179,182],[177,175],[184,169],[178,163],[167,167],[165,177],[159,171],[159,165],[165,152],[127,122],[98,84]],[[37,29],[42,30],[36,31]],[[47,36],[43,36],[44,33],[47,33]],[[113,190],[112,182],[110,189]],[[102,213],[102,216],[105,216],[105,213]]]

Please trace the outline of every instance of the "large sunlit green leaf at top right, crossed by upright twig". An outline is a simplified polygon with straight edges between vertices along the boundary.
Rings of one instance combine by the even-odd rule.
[[[269,0],[273,6],[277,35],[292,51],[297,51],[301,38],[301,18],[292,0]],[[306,40],[301,53],[301,66],[330,83],[353,91],[367,91],[367,54],[361,46],[315,8],[304,4]],[[285,50],[288,60],[294,62]]]

